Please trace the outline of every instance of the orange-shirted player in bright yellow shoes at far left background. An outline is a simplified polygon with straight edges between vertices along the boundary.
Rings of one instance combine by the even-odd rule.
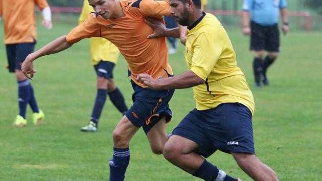
[[[50,7],[45,0],[0,0],[0,17],[4,21],[5,44],[7,49],[9,72],[16,74],[18,82],[19,114],[13,126],[27,125],[26,109],[29,104],[33,114],[33,123],[39,125],[44,118],[43,112],[38,108],[34,90],[29,80],[21,72],[21,64],[28,54],[34,51],[37,40],[35,5],[41,10],[43,25],[52,28]],[[21,17],[24,16],[24,17]]]

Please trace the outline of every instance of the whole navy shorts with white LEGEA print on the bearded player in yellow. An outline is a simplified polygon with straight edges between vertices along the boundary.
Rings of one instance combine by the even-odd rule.
[[[217,149],[225,153],[255,154],[250,110],[240,103],[223,103],[208,110],[193,109],[172,134],[196,142],[198,154],[208,157]]]

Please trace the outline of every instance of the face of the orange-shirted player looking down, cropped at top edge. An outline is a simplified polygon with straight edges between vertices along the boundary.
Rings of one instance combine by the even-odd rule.
[[[104,19],[110,18],[113,14],[115,7],[114,0],[88,0],[88,3]]]

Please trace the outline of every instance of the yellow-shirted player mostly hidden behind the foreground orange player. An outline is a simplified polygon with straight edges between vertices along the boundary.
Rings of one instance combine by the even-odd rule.
[[[79,16],[79,24],[81,24],[91,12],[95,12],[95,10],[93,7],[89,6],[87,0],[84,0],[82,13]],[[107,94],[114,106],[116,106],[123,115],[125,115],[127,111],[123,95],[115,85],[113,79],[113,69],[119,58],[119,49],[114,46],[113,43],[101,37],[89,38],[89,43],[91,64],[94,65],[97,74],[97,95],[89,124],[82,127],[81,131],[97,131],[98,122]]]

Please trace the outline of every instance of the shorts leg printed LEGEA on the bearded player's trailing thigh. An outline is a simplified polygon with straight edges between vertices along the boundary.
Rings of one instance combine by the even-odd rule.
[[[214,147],[226,152],[255,154],[251,112],[240,103],[223,103],[209,112],[206,134]]]

